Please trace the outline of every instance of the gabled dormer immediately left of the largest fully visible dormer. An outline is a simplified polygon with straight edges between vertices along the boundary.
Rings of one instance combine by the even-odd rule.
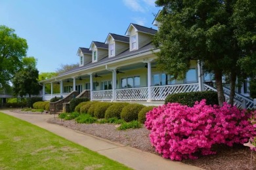
[[[129,49],[129,37],[109,33],[105,41],[108,44],[108,57],[114,57]]]

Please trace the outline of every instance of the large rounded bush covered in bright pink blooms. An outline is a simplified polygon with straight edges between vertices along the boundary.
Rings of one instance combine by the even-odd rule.
[[[206,105],[203,99],[194,107],[168,103],[154,108],[146,114],[145,126],[156,152],[181,161],[215,154],[213,144],[246,143],[256,135],[250,116],[227,103],[223,107]]]

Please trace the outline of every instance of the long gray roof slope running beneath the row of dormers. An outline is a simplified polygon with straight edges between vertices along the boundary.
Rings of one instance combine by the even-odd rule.
[[[122,52],[121,54],[118,54],[117,56],[113,57],[113,58],[108,58],[108,56],[100,59],[99,61],[95,62],[95,63],[92,63],[92,62],[89,62],[81,67],[75,67],[73,69],[71,69],[70,71],[67,71],[66,73],[62,73],[60,76],[62,75],[68,75],[74,71],[79,71],[79,70],[83,70],[83,69],[89,69],[91,67],[95,67],[97,65],[100,65],[100,64],[103,64],[103,63],[108,63],[110,61],[118,61],[118,59],[122,59],[122,58],[128,58],[130,56],[133,56],[133,55],[136,55],[136,54],[142,54],[144,52],[148,52],[150,50],[154,50],[154,45],[152,44],[152,42],[146,44],[145,46],[142,46],[142,48],[139,48],[138,50],[133,50],[133,51],[130,51],[129,49],[128,50],[125,50],[124,52]]]

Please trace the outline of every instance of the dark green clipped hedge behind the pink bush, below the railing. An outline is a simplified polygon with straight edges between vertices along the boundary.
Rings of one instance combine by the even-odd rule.
[[[187,105],[189,107],[194,106],[196,101],[206,99],[207,105],[218,105],[217,92],[204,91],[204,92],[188,92],[188,93],[173,93],[167,95],[165,98],[165,104],[167,103],[181,103],[181,105]]]

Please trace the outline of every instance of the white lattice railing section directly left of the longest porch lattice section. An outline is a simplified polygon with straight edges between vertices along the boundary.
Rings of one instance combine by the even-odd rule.
[[[148,88],[124,88],[116,90],[117,101],[146,101]]]

